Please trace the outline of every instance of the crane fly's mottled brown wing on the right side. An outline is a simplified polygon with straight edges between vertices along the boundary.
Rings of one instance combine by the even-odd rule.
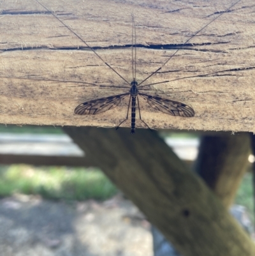
[[[171,116],[193,117],[195,114],[194,110],[184,103],[175,102],[158,96],[150,96],[143,93],[139,93],[139,95],[147,100],[149,105],[154,109],[170,114]]]

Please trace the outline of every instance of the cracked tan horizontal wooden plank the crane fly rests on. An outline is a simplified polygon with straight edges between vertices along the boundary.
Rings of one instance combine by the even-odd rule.
[[[130,45],[134,13],[139,82],[235,1],[41,3],[55,11],[59,19],[95,47],[128,81],[132,79]],[[114,127],[125,119],[128,99],[96,116],[74,114],[75,107],[82,102],[128,92],[129,87],[50,12],[34,0],[1,1],[0,10],[0,123]],[[255,132],[254,11],[254,1],[240,1],[148,80],[152,83],[219,72],[148,87],[147,93],[184,102],[195,111],[191,118],[173,117],[156,112],[140,99],[142,118],[149,126]],[[130,120],[122,126],[130,126]],[[144,124],[138,122],[138,126]]]

